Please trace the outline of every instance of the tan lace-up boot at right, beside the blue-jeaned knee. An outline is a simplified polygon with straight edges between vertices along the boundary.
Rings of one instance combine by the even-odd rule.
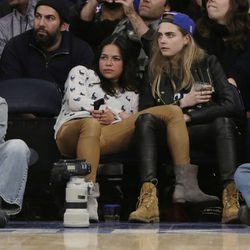
[[[231,182],[223,190],[222,223],[237,222],[239,209],[239,191],[235,183]]]

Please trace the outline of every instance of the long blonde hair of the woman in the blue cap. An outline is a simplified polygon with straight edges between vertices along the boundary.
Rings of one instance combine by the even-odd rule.
[[[154,38],[151,50],[151,59],[149,63],[150,73],[153,77],[151,90],[154,98],[156,98],[156,96],[161,96],[159,88],[163,73],[166,73],[169,76],[175,92],[180,89],[190,88],[194,82],[191,67],[194,63],[200,62],[205,56],[204,50],[197,46],[193,37],[181,28],[179,28],[179,30],[183,36],[190,36],[190,42],[185,45],[179,54],[178,68],[173,67],[170,60],[162,55],[158,45],[158,36],[156,35]],[[176,87],[176,83],[173,80],[173,76],[181,78],[178,89]]]

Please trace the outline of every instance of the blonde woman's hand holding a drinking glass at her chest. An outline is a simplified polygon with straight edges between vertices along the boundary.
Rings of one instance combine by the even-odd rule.
[[[195,90],[194,86],[191,91],[184,95],[184,97],[180,100],[180,107],[192,107],[199,103],[209,102],[212,98],[213,91],[212,90]]]

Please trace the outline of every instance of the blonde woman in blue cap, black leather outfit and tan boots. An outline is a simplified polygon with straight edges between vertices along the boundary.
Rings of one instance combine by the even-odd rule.
[[[238,193],[228,194],[228,185],[234,185],[237,166],[236,133],[231,117],[239,109],[234,103],[231,85],[215,56],[207,55],[193,39],[194,21],[178,12],[166,12],[158,26],[152,44],[149,64],[150,79],[140,95],[140,108],[176,104],[183,111],[187,123],[190,147],[216,153],[219,173],[223,185],[223,222],[237,218]],[[143,41],[148,42],[148,41]],[[151,41],[150,41],[151,42]],[[148,44],[146,44],[147,46]],[[147,46],[148,47],[148,46]],[[160,106],[161,107],[161,106]],[[141,115],[136,121],[135,137],[138,141],[139,174],[142,192],[139,205],[130,214],[130,220],[149,221],[151,195],[144,192],[145,183],[155,182],[161,151],[154,145],[162,141],[162,122],[149,114]],[[147,155],[147,157],[143,157]],[[189,173],[174,168],[177,185],[181,176],[188,179]],[[173,202],[184,203],[175,188]]]

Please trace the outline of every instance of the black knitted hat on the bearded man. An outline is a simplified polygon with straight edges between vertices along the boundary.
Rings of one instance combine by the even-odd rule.
[[[53,8],[63,21],[69,22],[69,3],[67,0],[40,0],[36,4],[35,13],[40,5],[47,5]]]

